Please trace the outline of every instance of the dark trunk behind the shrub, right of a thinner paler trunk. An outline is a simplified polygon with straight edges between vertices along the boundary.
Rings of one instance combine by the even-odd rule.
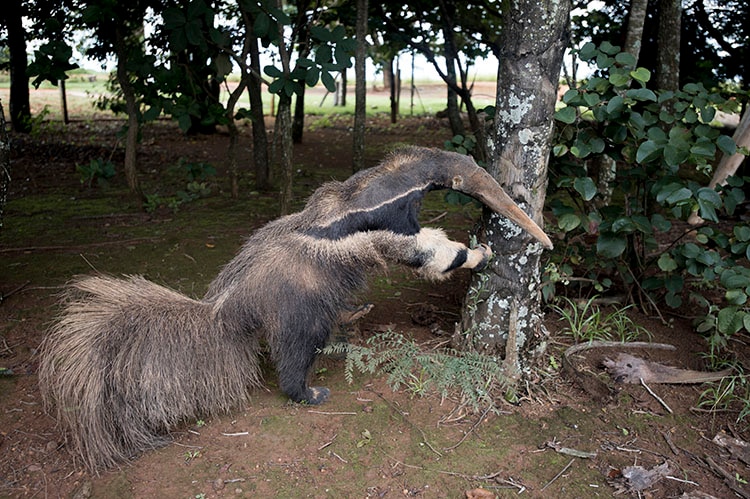
[[[656,54],[656,86],[659,90],[680,88],[681,0],[659,0],[659,31]]]

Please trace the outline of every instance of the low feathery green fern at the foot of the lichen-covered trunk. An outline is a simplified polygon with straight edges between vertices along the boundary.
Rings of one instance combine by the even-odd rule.
[[[387,374],[394,391],[406,388],[419,396],[458,394],[474,410],[493,406],[493,394],[508,388],[495,357],[453,349],[425,352],[414,340],[393,331],[370,337],[364,346],[334,343],[323,353],[346,355],[344,377],[348,383],[353,382],[355,370]]]

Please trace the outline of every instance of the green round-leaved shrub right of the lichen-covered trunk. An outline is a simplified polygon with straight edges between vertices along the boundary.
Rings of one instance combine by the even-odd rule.
[[[545,296],[569,282],[596,292],[622,286],[655,310],[687,300],[718,352],[750,330],[750,227],[719,223],[744,201],[744,179],[705,187],[712,165],[737,151],[712,126],[736,101],[701,84],[652,91],[649,72],[608,43],[586,44],[578,56],[597,72],[566,91],[555,113],[547,202],[563,237]],[[705,223],[688,232],[682,222],[693,212]]]

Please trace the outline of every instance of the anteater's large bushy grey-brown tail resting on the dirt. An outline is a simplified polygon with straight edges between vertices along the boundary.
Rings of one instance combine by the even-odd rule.
[[[257,338],[211,304],[142,277],[69,289],[39,382],[91,470],[163,445],[169,428],[237,407],[260,384]]]

